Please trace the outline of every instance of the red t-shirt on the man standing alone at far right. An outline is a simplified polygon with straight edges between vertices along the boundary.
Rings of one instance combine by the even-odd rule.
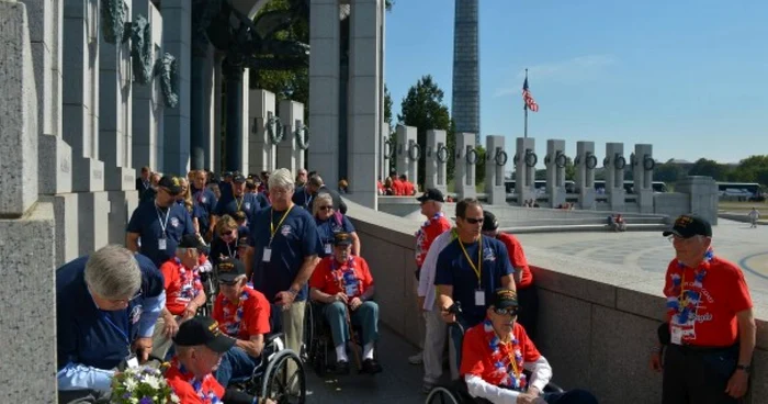
[[[707,274],[701,281],[701,296],[696,312],[692,330],[684,334],[685,345],[701,347],[727,347],[738,338],[736,313],[752,308],[749,289],[744,280],[742,270],[731,261],[713,257],[709,263],[702,263]],[[693,287],[696,270],[680,268],[677,258],[667,267],[664,295],[670,298],[673,292],[673,274],[685,279],[682,288]],[[676,296],[676,298],[679,298]],[[671,321],[671,312],[667,312],[667,321]]]

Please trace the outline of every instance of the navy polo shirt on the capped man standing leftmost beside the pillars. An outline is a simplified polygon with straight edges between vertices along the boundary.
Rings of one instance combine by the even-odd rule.
[[[166,215],[168,222],[166,224]],[[162,218],[162,223],[160,220]],[[166,227],[166,249],[159,249],[159,239],[163,238],[162,227]],[[143,203],[131,215],[128,221],[128,233],[138,233],[142,238],[139,252],[149,257],[156,266],[176,256],[176,246],[179,245],[181,236],[194,234],[192,216],[187,209],[178,203],[171,204],[169,210],[162,211],[155,203]]]

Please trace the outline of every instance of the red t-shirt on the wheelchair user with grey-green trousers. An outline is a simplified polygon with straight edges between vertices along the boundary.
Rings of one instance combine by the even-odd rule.
[[[352,256],[353,278],[349,271],[349,261],[343,265],[336,262],[334,256],[323,258],[315,267],[309,278],[309,288],[315,288],[323,293],[337,294],[347,293],[348,298],[359,298],[373,284],[373,277],[368,268],[368,262],[362,257]],[[336,262],[336,265],[334,265]],[[347,274],[347,276],[346,276]],[[341,288],[341,284],[345,288]]]

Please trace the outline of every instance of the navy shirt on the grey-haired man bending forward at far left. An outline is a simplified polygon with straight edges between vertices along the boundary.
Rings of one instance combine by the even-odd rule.
[[[142,270],[142,289],[128,307],[102,311],[93,303],[86,285],[88,256],[56,270],[56,351],[58,369],[82,363],[113,369],[128,355],[138,337],[138,323],[146,298],[162,293],[162,273],[149,258],[135,255]]]

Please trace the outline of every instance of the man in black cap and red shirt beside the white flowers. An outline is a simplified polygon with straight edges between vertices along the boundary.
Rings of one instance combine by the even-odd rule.
[[[222,334],[218,323],[208,317],[192,317],[181,324],[173,343],[177,356],[166,371],[166,380],[180,404],[259,402],[244,392],[225,390],[211,374],[224,354],[235,346],[235,339]],[[267,399],[263,403],[274,402]]]

